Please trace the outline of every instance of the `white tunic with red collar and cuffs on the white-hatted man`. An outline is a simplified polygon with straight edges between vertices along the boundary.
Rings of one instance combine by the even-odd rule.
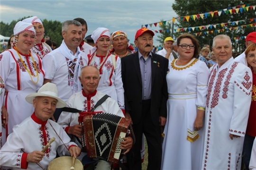
[[[46,150],[43,160],[39,162],[45,169],[50,161],[55,159],[56,151],[60,156],[70,155],[66,147],[69,149],[77,145],[70,142],[69,136],[57,123],[52,120],[44,122],[32,114],[13,128],[13,133],[8,136],[6,144],[0,150],[0,165],[13,167],[13,170],[42,170],[36,163],[27,163],[27,153],[42,151],[52,137],[55,137],[55,141]]]

